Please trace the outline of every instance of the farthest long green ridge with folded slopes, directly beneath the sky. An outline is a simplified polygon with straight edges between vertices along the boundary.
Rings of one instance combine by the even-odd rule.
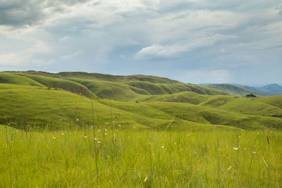
[[[98,73],[46,73],[46,72],[8,72],[44,84],[47,87],[61,88],[75,94],[93,96],[116,101],[137,101],[146,95],[196,92],[198,94],[227,94],[216,89],[184,84],[164,77],[145,75],[103,75]],[[68,82],[71,81],[71,82]],[[19,82],[20,84],[20,82]]]

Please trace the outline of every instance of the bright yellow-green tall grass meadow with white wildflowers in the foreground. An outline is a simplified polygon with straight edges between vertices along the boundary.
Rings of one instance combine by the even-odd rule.
[[[122,128],[1,125],[0,187],[282,187],[280,131]]]

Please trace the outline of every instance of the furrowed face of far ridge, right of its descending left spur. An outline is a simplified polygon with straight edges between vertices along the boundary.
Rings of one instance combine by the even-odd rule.
[[[139,99],[142,95],[175,94],[185,91],[198,94],[227,94],[216,89],[199,87],[195,84],[184,84],[164,77],[145,75],[114,76],[96,73],[59,74],[69,80],[84,84],[100,98],[117,101],[133,101]],[[106,91],[104,91],[105,89]],[[111,89],[114,91],[109,91]]]

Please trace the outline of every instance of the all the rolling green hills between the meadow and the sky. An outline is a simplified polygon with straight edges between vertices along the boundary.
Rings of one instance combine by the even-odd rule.
[[[92,102],[95,124],[108,128],[164,129],[172,119],[176,130],[282,127],[282,96],[250,99],[144,75],[27,71],[0,78],[0,124],[22,129],[90,126]]]

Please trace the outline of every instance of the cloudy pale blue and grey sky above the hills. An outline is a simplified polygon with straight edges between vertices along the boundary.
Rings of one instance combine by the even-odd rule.
[[[0,0],[0,71],[282,84],[281,0]]]

